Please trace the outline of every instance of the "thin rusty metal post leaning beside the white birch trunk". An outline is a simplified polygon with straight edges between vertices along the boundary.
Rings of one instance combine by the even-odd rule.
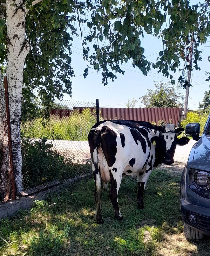
[[[11,137],[11,126],[10,126],[10,105],[9,105],[9,92],[8,92],[7,77],[4,77],[4,88],[5,88],[6,113],[7,113],[8,144],[9,144],[9,152],[10,152],[12,199],[16,200],[16,183],[15,183],[14,162],[13,162],[13,153],[12,153],[12,137]]]

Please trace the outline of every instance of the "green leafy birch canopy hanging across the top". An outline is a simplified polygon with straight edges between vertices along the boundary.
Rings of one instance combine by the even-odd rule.
[[[87,61],[84,77],[90,66],[102,72],[102,83],[116,79],[124,73],[120,64],[132,59],[144,75],[152,68],[159,69],[175,84],[170,71],[181,68],[180,60],[186,61],[190,51],[190,40],[195,41],[193,68],[199,69],[201,60],[198,46],[207,40],[210,33],[210,3],[190,5],[187,0],[27,0],[30,8],[26,17],[26,35],[30,52],[25,59],[23,88],[24,100],[39,95],[43,105],[48,106],[53,98],[62,99],[71,95],[71,41],[79,36],[83,56]],[[6,0],[1,1],[0,12],[0,61],[7,55]],[[18,7],[18,6],[17,6]],[[1,13],[4,13],[1,14]],[[156,63],[144,56],[141,40],[144,34],[158,36],[163,41]],[[90,44],[92,43],[92,44]],[[90,52],[90,45],[94,54]],[[185,65],[185,69],[190,67]],[[180,77],[186,87],[184,77]],[[27,107],[29,100],[24,101]]]

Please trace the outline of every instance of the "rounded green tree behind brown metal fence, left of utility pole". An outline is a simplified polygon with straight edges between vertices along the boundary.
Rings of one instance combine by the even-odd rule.
[[[155,82],[155,81],[154,81]],[[147,89],[147,94],[142,97],[145,108],[179,108],[183,107],[184,95],[180,93],[179,86],[160,81],[155,84],[155,89]]]

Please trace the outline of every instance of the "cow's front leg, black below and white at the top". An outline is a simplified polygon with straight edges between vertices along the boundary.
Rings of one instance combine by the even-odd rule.
[[[137,175],[137,181],[139,185],[139,190],[138,190],[138,195],[137,195],[137,208],[138,209],[144,209],[143,205],[143,194],[144,190],[146,187],[147,180],[150,176],[151,170],[150,171],[144,171],[144,172],[139,172]]]

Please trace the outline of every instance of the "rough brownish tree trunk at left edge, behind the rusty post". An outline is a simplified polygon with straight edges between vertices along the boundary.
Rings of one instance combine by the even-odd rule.
[[[4,98],[0,70],[0,201],[2,202],[9,200],[11,195],[10,156]]]

